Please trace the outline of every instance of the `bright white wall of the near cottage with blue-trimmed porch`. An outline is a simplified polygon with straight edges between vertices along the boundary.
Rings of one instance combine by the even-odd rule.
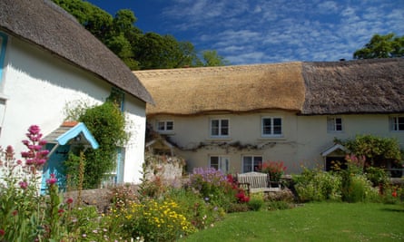
[[[0,145],[14,146],[19,156],[24,150],[21,140],[26,139],[30,125],[38,125],[46,135],[64,121],[66,103],[81,100],[100,104],[109,96],[112,85],[44,49],[11,37],[8,41],[0,85],[0,92],[8,98]],[[134,135],[125,152],[124,179],[137,182],[136,169],[141,169],[143,162],[145,103],[128,94],[125,98],[125,111],[134,124],[130,129]]]

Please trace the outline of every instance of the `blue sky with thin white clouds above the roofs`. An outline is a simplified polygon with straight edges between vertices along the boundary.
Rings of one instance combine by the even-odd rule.
[[[86,0],[131,9],[143,32],[172,34],[232,64],[352,59],[373,34],[404,35],[404,0]]]

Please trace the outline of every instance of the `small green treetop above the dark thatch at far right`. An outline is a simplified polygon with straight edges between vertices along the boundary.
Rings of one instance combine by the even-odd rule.
[[[355,53],[354,59],[392,58],[404,56],[404,35],[374,34],[368,44]]]

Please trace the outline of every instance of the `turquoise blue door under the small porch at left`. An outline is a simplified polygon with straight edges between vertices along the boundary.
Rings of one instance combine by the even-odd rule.
[[[52,150],[54,144],[46,144],[47,150]],[[57,186],[60,190],[66,189],[66,174],[64,170],[64,160],[67,160],[67,156],[70,150],[70,145],[61,145],[54,153],[49,157],[44,165],[44,173],[42,175],[41,194],[46,190],[46,179],[51,178],[51,174],[55,175],[57,179]]]

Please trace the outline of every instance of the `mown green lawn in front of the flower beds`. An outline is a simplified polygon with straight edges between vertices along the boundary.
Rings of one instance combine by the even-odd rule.
[[[404,207],[324,202],[234,213],[182,241],[404,241]]]

